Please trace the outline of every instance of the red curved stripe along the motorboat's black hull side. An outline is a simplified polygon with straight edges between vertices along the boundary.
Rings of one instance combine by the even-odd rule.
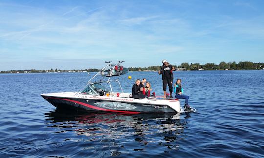
[[[101,110],[101,111],[109,111],[109,112],[117,112],[117,113],[129,113],[129,114],[139,114],[140,112],[133,112],[133,111],[120,111],[120,110],[110,110],[110,109],[104,109],[104,108],[99,108],[90,104],[86,104],[80,101],[75,101],[75,100],[70,100],[70,99],[63,99],[63,98],[55,98],[55,97],[47,97],[47,98],[52,98],[52,99],[59,99],[59,100],[65,100],[65,101],[70,101],[70,102],[74,102],[83,106],[86,106],[88,108],[91,109],[95,109],[95,110]]]

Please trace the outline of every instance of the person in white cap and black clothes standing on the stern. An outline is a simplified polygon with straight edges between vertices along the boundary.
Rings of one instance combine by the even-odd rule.
[[[175,69],[170,65],[165,59],[162,60],[162,68],[158,71],[158,74],[162,74],[162,81],[163,81],[163,91],[164,91],[164,98],[166,98],[166,89],[167,84],[169,86],[170,91],[170,98],[173,98],[172,96],[172,82],[173,82],[173,72]]]

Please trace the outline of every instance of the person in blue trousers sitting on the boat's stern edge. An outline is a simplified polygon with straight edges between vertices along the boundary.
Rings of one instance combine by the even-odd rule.
[[[177,99],[185,99],[185,105],[184,105],[184,110],[185,111],[190,111],[192,110],[190,106],[188,105],[188,100],[189,96],[187,95],[182,95],[183,93],[183,88],[181,85],[181,79],[177,79],[177,82],[174,84],[174,92],[175,92],[175,98]]]

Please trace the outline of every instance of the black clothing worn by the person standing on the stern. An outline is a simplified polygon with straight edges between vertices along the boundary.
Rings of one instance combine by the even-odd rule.
[[[167,84],[169,86],[170,92],[172,92],[172,82],[173,82],[173,73],[172,73],[172,65],[165,66],[163,65],[160,74],[162,74],[163,81],[163,91],[166,91]]]

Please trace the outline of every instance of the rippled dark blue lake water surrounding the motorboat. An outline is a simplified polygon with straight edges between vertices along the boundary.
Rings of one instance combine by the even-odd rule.
[[[57,111],[40,96],[93,74],[0,74],[0,157],[264,157],[264,71],[174,72],[190,114]],[[157,72],[121,76],[124,91],[142,78],[162,95]]]

